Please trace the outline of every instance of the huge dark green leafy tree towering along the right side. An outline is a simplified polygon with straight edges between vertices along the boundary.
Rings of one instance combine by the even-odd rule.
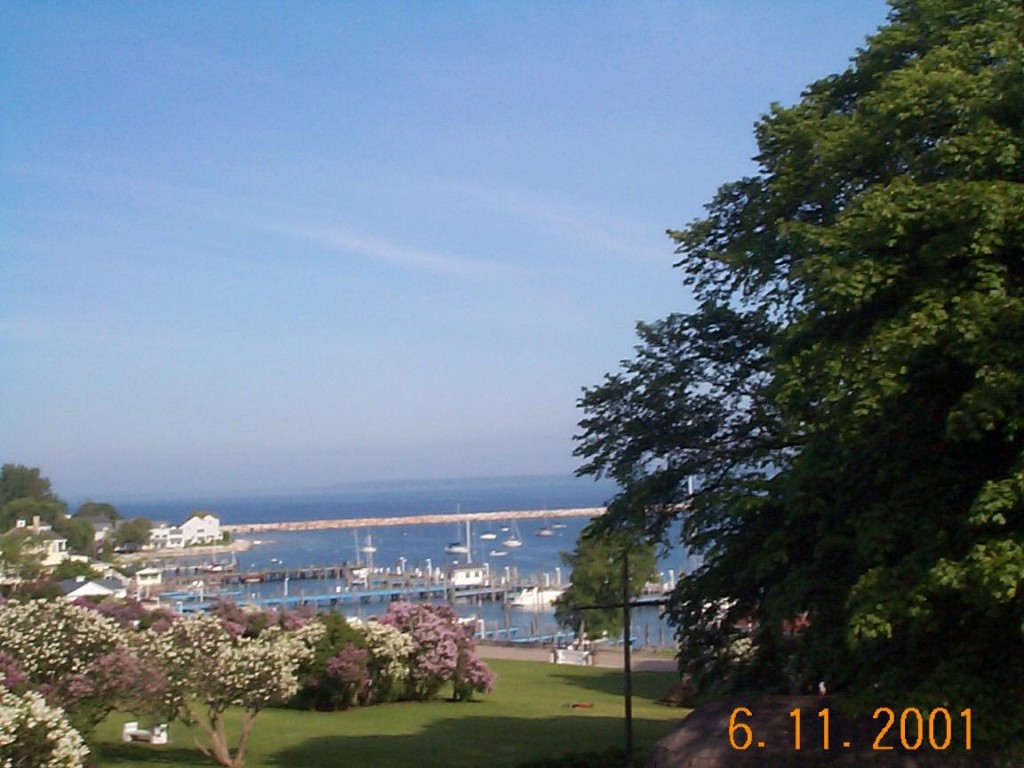
[[[671,232],[698,310],[585,390],[605,524],[682,517],[705,555],[672,614],[706,688],[825,678],[1024,734],[1022,50],[1015,0],[894,0]]]

